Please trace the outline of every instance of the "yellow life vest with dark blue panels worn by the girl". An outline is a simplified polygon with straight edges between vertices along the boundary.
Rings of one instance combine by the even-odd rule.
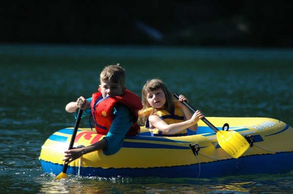
[[[177,105],[171,113],[169,113],[168,111],[163,110],[163,109],[156,109],[155,113],[152,113],[152,112],[153,112],[153,107],[149,107],[149,108],[143,110],[143,112],[142,112],[142,114],[147,117],[145,127],[150,130],[152,135],[154,135],[154,136],[169,136],[169,137],[186,136],[187,135],[187,129],[183,129],[182,131],[177,132],[176,134],[165,134],[164,132],[159,131],[157,128],[150,128],[150,122],[149,122],[148,117],[151,114],[159,116],[160,119],[162,119],[167,124],[183,122],[184,115],[183,115],[183,112],[182,112],[179,105]]]

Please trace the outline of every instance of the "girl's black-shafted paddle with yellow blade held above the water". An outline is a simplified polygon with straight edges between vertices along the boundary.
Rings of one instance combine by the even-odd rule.
[[[179,95],[177,93],[175,93],[174,96],[179,99]],[[195,108],[192,107],[188,102],[183,101],[181,103],[183,103],[183,105],[195,113]],[[201,120],[215,131],[219,145],[233,158],[239,158],[248,149],[249,143],[241,134],[237,133],[236,131],[219,130],[205,117]]]

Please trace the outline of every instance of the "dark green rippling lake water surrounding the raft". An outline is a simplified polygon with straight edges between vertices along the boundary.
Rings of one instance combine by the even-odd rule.
[[[206,116],[270,117],[293,125],[293,50],[0,44],[1,193],[293,193],[292,173],[67,181],[43,174],[41,145],[75,123],[65,105],[91,96],[100,71],[115,63],[126,70],[126,87],[139,96],[146,80],[158,77]],[[87,119],[81,126],[88,127]]]

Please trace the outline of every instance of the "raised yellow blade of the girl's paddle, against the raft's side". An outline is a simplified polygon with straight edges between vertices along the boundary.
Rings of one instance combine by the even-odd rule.
[[[216,132],[219,145],[233,158],[239,158],[248,148],[248,141],[236,131]]]

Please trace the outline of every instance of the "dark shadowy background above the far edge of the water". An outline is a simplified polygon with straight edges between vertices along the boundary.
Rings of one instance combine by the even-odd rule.
[[[292,0],[1,0],[0,42],[293,47]]]

